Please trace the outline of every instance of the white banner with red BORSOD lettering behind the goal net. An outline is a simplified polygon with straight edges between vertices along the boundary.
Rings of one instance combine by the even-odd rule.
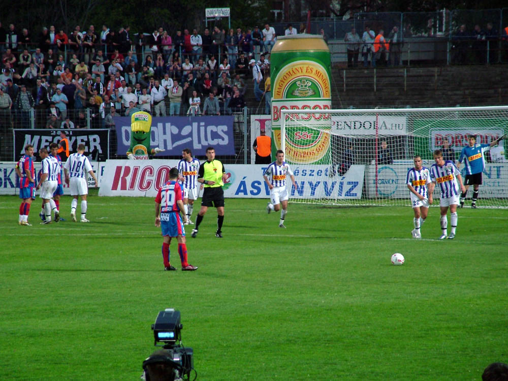
[[[430,130],[430,150],[434,151],[436,149],[441,149],[443,145],[443,141],[448,140],[450,147],[453,148],[454,151],[462,151],[468,144],[468,135],[476,135],[477,143],[480,144],[490,144],[500,136],[503,136],[503,129],[485,129],[485,130],[440,130],[440,129],[431,129]],[[503,145],[503,141],[501,140],[500,145]]]

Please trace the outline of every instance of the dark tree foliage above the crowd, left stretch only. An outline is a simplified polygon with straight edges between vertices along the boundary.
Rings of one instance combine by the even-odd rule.
[[[192,31],[205,27],[205,8],[224,7],[223,0],[127,0],[123,2],[100,0],[22,0],[11,2],[4,7],[2,19],[4,27],[13,23],[16,29],[28,28],[38,34],[43,26],[62,28],[71,33],[75,25],[88,29],[90,24],[100,30],[106,24],[112,30],[130,25],[136,33],[150,33],[154,28],[164,27],[170,34],[188,28]],[[231,27],[248,27],[262,24],[270,17],[268,0],[231,0]],[[228,28],[228,20],[209,20],[208,25],[217,23]]]

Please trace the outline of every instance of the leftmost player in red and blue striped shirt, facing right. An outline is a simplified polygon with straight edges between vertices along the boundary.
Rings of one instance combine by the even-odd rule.
[[[34,146],[27,144],[25,154],[16,163],[16,173],[19,177],[19,198],[23,200],[19,206],[18,224],[31,226],[28,223],[28,213],[32,200],[35,200],[35,167]]]

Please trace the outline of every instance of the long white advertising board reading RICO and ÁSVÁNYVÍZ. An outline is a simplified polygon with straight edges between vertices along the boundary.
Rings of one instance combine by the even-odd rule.
[[[169,178],[177,160],[108,160],[102,176],[99,196],[155,197],[157,190]],[[225,165],[228,179],[225,197],[267,198],[270,194],[263,179],[267,166]],[[291,198],[351,198],[362,195],[364,166],[354,165],[344,176],[329,176],[329,166],[293,167],[298,188],[290,181]],[[199,192],[202,195],[202,190]]]

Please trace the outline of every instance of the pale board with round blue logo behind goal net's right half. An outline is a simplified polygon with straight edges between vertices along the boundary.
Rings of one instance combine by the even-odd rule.
[[[430,168],[432,163],[426,164]],[[368,166],[367,178],[367,192],[369,197],[376,196],[376,181],[377,181],[377,195],[387,198],[408,199],[409,190],[406,185],[407,171],[414,167],[409,161],[405,164],[392,164],[376,167],[375,165]],[[461,168],[462,178],[465,177],[465,168]],[[485,165],[483,171],[483,184],[481,185],[481,195],[483,198],[505,198],[508,197],[508,164],[507,163],[492,163]],[[438,189],[436,187],[436,189]],[[439,198],[438,190],[434,193],[436,199]]]

